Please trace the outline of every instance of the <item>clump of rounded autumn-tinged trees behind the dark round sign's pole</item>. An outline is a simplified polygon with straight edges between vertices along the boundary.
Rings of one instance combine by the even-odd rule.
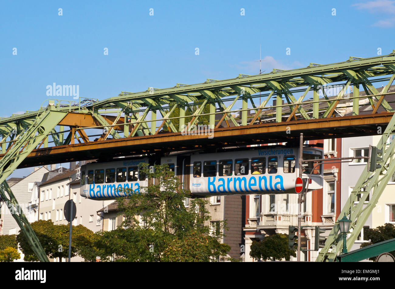
[[[31,226],[49,258],[59,257],[61,260],[68,257],[69,225],[55,225],[51,220],[38,220],[32,223]],[[83,225],[73,226],[71,257],[83,254],[84,250],[86,250],[85,246],[90,244],[87,240],[90,240],[92,237],[93,232]],[[19,242],[21,251],[24,254],[24,261],[38,261],[23,233],[17,235],[17,242]]]

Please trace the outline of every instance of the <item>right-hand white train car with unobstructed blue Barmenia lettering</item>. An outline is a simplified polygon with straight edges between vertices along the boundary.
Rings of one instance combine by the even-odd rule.
[[[303,159],[320,159],[321,149],[303,148]],[[193,195],[284,194],[295,193],[299,176],[299,148],[257,147],[191,155],[190,186]],[[303,178],[308,178],[315,162],[303,164]],[[312,172],[309,190],[322,188],[322,165]]]

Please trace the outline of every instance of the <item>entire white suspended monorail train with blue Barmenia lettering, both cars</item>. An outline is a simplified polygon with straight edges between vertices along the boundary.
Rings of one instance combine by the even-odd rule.
[[[254,147],[220,153],[181,153],[167,157],[118,158],[111,162],[93,162],[81,166],[81,196],[103,200],[140,192],[152,183],[140,170],[167,164],[193,196],[227,194],[295,193],[299,176],[299,147]],[[323,158],[322,149],[303,147],[303,160]],[[302,177],[311,173],[309,190],[323,186],[322,164],[304,162]],[[123,191],[123,192],[122,192]]]

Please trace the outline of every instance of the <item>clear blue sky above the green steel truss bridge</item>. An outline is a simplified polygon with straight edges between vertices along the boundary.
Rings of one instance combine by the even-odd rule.
[[[2,117],[40,108],[53,82],[105,99],[258,74],[260,45],[267,72],[395,49],[389,0],[4,1],[0,25]]]

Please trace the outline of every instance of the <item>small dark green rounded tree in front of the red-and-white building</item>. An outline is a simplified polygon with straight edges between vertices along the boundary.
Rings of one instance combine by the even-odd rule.
[[[253,241],[251,244],[250,256],[255,259],[263,259],[263,261],[273,259],[281,260],[285,258],[286,261],[290,257],[296,257],[295,250],[288,249],[288,235],[274,234],[265,237],[260,242]]]

